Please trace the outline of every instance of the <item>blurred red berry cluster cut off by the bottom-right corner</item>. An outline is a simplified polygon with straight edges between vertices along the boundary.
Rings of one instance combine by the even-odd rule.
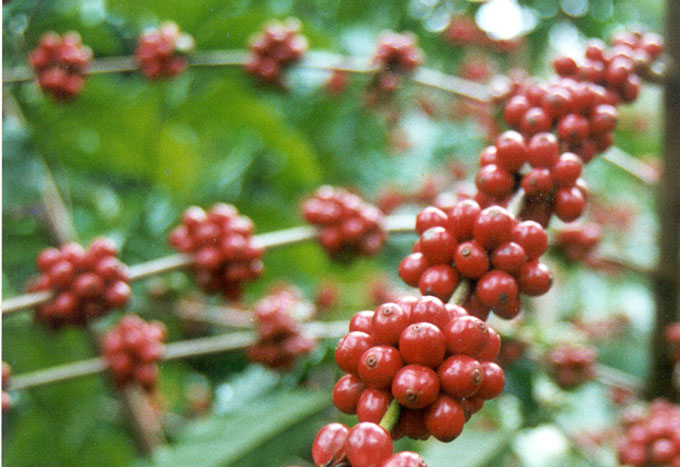
[[[680,407],[657,399],[647,414],[627,420],[618,456],[634,467],[680,465]]]

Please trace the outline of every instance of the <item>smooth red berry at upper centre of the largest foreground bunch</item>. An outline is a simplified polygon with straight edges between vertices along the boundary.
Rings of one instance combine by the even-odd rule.
[[[411,324],[401,333],[399,352],[406,363],[436,368],[444,360],[446,338],[434,324]]]

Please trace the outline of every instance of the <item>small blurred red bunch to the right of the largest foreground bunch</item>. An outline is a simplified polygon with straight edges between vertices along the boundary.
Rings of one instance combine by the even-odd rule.
[[[596,358],[591,347],[560,345],[548,354],[548,364],[557,385],[571,389],[593,378]]]

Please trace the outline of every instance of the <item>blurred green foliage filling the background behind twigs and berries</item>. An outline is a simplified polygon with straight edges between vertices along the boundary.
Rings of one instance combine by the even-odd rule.
[[[575,41],[577,47],[588,36],[604,38],[637,22],[658,30],[662,22],[659,0],[532,0],[522,6],[535,27],[526,36],[526,48],[506,56],[478,48],[462,50],[441,39],[442,17],[479,8],[464,0],[13,0],[4,7],[3,58],[5,67],[22,65],[42,33],[71,29],[81,33],[96,57],[129,55],[141,30],[165,20],[176,21],[192,34],[198,50],[238,49],[268,20],[296,16],[312,49],[367,55],[382,29],[411,30],[433,68],[457,73],[466,57],[484,54],[500,72],[520,66],[546,75],[550,57],[564,42]],[[565,13],[574,11],[579,16]],[[474,121],[446,117],[454,113],[457,99],[452,96],[406,85],[388,111],[379,111],[364,103],[366,78],[352,77],[350,88],[337,97],[323,90],[323,73],[293,70],[289,78],[289,92],[281,92],[258,86],[236,68],[189,70],[161,83],[147,82],[136,73],[102,75],[91,77],[82,95],[67,105],[42,96],[35,83],[5,86],[26,124],[6,108],[3,296],[24,290],[36,272],[33,258],[56,242],[41,200],[47,174],[56,180],[79,238],[88,242],[99,235],[111,236],[121,245],[122,259],[135,264],[171,252],[165,237],[189,205],[234,203],[255,221],[258,232],[267,232],[299,224],[298,202],[321,183],[352,186],[375,199],[388,184],[418,187],[452,161],[471,173],[485,144],[484,132]],[[432,118],[415,105],[421,98],[445,110]],[[635,155],[657,151],[658,100],[658,91],[645,91],[639,103],[624,112],[617,144]],[[406,135],[409,147],[400,150],[391,144],[395,132]],[[588,167],[586,179],[602,204],[629,206],[636,214],[625,235],[614,229],[606,232],[604,248],[651,264],[656,225],[651,194],[602,161]],[[364,285],[376,274],[387,274],[398,283],[396,265],[411,240],[390,241],[377,258],[349,266],[331,263],[313,244],[273,251],[265,258],[263,280],[248,288],[246,301],[252,303],[270,284],[282,280],[312,297],[320,281],[330,277],[340,285],[341,304],[346,306],[328,318],[348,317],[359,306],[371,306]],[[580,266],[560,266],[557,259],[552,262],[558,270],[556,290],[545,300],[528,304],[535,332],[543,333],[539,341],[559,339],[562,328],[543,326],[559,317],[578,313],[594,319],[620,311],[632,321],[631,339],[623,344],[606,341],[601,355],[612,366],[643,375],[647,361],[642,349],[652,306],[644,284],[634,277],[602,277]],[[193,289],[191,279],[182,273],[163,280],[178,295]],[[147,285],[135,284],[130,308],[166,321],[171,340],[186,338],[186,330],[166,311],[171,304],[151,299]],[[3,320],[2,333],[3,360],[16,374],[93,355],[82,331],[51,332],[34,325],[28,314]],[[14,394],[16,407],[3,416],[3,463],[308,463],[315,430],[338,416],[329,402],[337,377],[332,348],[333,342],[326,343],[288,376],[247,366],[238,352],[164,363],[162,406],[184,416],[187,388],[197,380],[216,388],[216,396],[210,415],[186,423],[180,419],[170,433],[170,446],[151,460],[138,459],[116,395],[104,378]],[[567,396],[554,387],[546,390],[544,375],[526,361],[510,367],[508,379],[507,396],[483,412],[486,424],[466,428],[450,445],[402,446],[422,448],[431,466],[448,466],[452,458],[457,465],[469,466],[529,462],[526,453],[518,453],[522,440],[545,433],[535,428],[540,424],[557,426],[539,395],[547,393],[550,403],[562,397],[582,401],[577,399],[582,395]],[[588,390],[587,402],[581,404],[597,407],[611,419],[614,408],[606,402],[604,389]],[[554,420],[576,426],[588,416],[564,410],[562,418]],[[498,419],[508,418],[514,421],[498,426]],[[569,450],[560,455],[551,465],[592,461]],[[603,453],[605,460],[607,455]]]

